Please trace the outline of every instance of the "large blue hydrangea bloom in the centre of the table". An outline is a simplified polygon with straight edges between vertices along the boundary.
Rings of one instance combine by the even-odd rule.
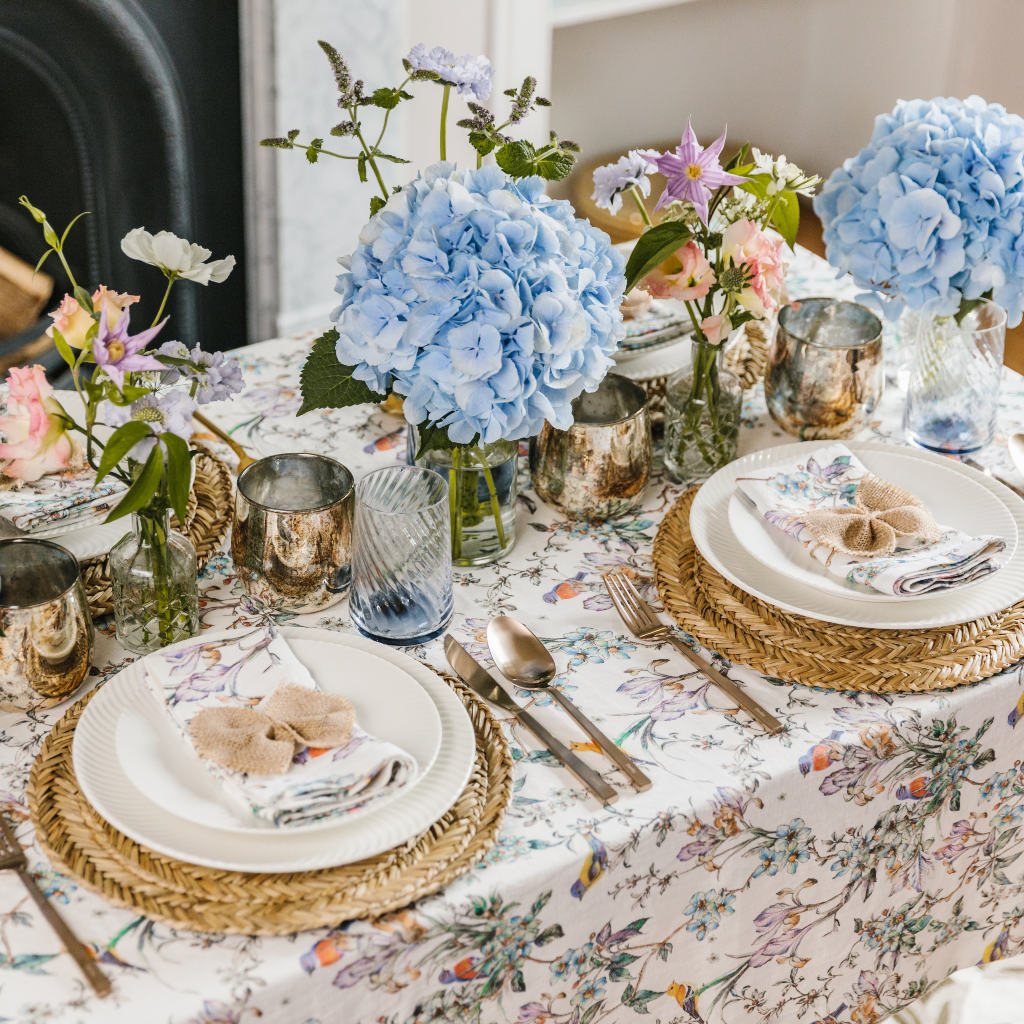
[[[482,443],[565,429],[625,334],[608,236],[498,167],[440,162],[371,218],[335,291],[338,359],[406,416]]]

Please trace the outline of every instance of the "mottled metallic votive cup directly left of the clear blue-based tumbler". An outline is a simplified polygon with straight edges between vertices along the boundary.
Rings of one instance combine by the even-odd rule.
[[[352,578],[352,474],[322,455],[273,455],[239,474],[231,558],[246,593],[274,610],[317,611]]]

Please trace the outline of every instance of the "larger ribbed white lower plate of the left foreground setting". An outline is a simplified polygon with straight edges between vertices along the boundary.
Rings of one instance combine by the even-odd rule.
[[[407,654],[364,637],[303,627],[281,627],[281,634],[290,642],[332,644],[337,650],[334,679],[339,684],[344,680],[347,685],[349,655],[359,651],[398,667],[423,687],[440,719],[441,743],[433,764],[414,788],[403,787],[399,797],[372,814],[313,833],[274,828],[243,834],[168,814],[132,784],[116,750],[117,724],[123,711],[137,710],[140,696],[153,699],[144,690],[139,670],[132,671],[138,663],[132,663],[89,701],[75,729],[75,773],[98,813],[135,842],[188,863],[236,871],[310,871],[389,850],[447,811],[462,793],[476,755],[472,723],[451,687]],[[307,654],[301,653],[300,659]],[[360,675],[357,682],[372,691],[375,680]],[[326,683],[334,688],[333,681]]]

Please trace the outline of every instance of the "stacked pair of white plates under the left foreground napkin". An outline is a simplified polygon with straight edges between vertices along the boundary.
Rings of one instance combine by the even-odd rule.
[[[419,662],[362,637],[302,627],[280,633],[322,690],[352,702],[367,732],[416,759],[413,779],[343,818],[298,827],[257,819],[225,797],[134,662],[92,698],[75,729],[75,774],[102,817],[135,842],[188,863],[308,871],[398,846],[452,807],[472,771],[476,739],[451,687]]]

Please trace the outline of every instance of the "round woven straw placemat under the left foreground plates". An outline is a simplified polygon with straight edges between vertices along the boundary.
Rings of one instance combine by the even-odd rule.
[[[376,857],[321,871],[253,874],[187,864],[128,839],[93,810],[72,763],[75,726],[96,690],[68,710],[32,766],[36,835],[58,870],[116,906],[172,928],[289,935],[378,918],[468,871],[494,845],[512,798],[512,758],[501,726],[462,683],[445,678],[473,723],[473,772],[446,814]]]

